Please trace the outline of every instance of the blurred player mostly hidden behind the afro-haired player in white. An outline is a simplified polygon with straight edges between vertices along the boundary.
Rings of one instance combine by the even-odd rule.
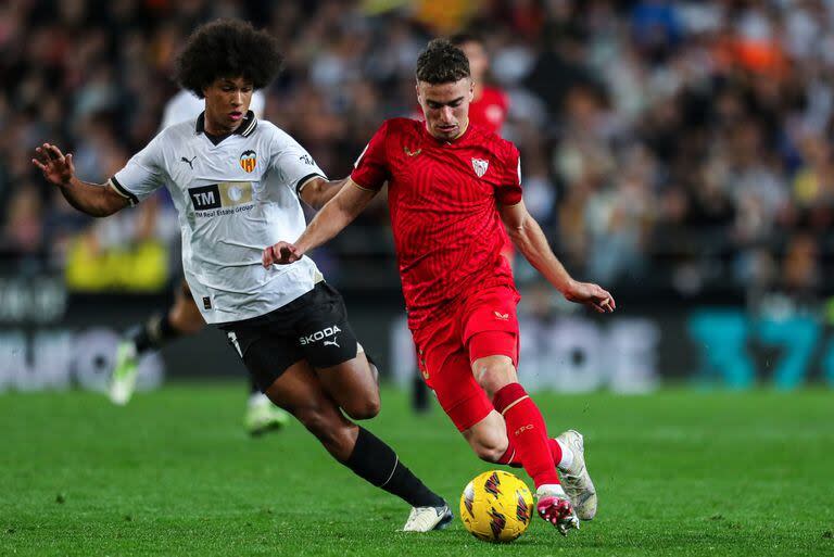
[[[252,93],[249,109],[260,118],[264,114],[266,99],[263,91]],[[205,101],[186,89],[170,98],[165,104],[160,131],[197,118],[205,107]],[[169,342],[199,332],[205,326],[184,279],[175,290],[174,304],[164,313],[155,313],[143,322],[129,328],[118,343],[116,362],[110,378],[109,395],[114,404],[125,405],[130,401],[136,389],[139,371],[139,358],[151,351],[160,350]],[[250,394],[243,415],[243,425],[253,436],[281,428],[290,421],[290,415],[274,405],[261,392],[255,380],[250,376]]]

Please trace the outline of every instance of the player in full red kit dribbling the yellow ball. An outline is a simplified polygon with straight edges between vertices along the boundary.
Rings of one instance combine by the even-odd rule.
[[[598,286],[573,280],[553,254],[521,200],[516,147],[470,125],[472,81],[463,51],[432,40],[416,74],[426,122],[384,122],[342,190],[294,243],[267,246],[263,263],[292,263],[328,241],[388,181],[424,379],[479,457],[525,468],[535,483],[539,515],[567,534],[579,518],[593,518],[596,491],[581,435],[570,430],[548,439],[542,414],[518,382],[520,296],[500,253],[502,227],[566,299],[601,313],[612,312],[615,301]]]

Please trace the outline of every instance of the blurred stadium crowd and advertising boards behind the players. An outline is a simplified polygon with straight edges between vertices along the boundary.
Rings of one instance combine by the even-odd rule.
[[[510,98],[526,201],[580,278],[611,290],[597,319],[523,262],[521,371],[531,387],[643,392],[664,381],[834,385],[834,2],[203,1],[0,3],[0,391],[100,389],[124,327],[179,277],[165,194],[102,220],[29,160],[50,140],[104,181],[156,132],[169,74],[201,22],[268,28],[286,72],[266,117],[331,177],[379,123],[414,113],[433,36],[473,29]],[[410,345],[382,201],[315,258],[389,377]],[[143,364],[236,377],[216,331]]]

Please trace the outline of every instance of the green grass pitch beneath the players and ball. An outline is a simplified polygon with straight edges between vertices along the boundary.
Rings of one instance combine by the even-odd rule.
[[[249,439],[240,383],[177,384],[125,407],[90,393],[0,394],[0,555],[834,555],[834,392],[535,398],[585,434],[599,514],[509,545],[397,532],[399,499],[336,465],[299,425]],[[435,408],[386,390],[368,425],[444,495],[477,460]],[[522,476],[526,481],[529,479]]]

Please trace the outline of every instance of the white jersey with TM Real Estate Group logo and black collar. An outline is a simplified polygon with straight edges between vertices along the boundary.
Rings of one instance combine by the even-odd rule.
[[[325,173],[292,137],[250,111],[218,144],[203,114],[165,128],[110,182],[131,204],[167,186],[182,233],[182,268],[208,324],[267,314],[313,290],[309,257],[261,264],[264,248],[294,241],[306,226],[299,191]]]

